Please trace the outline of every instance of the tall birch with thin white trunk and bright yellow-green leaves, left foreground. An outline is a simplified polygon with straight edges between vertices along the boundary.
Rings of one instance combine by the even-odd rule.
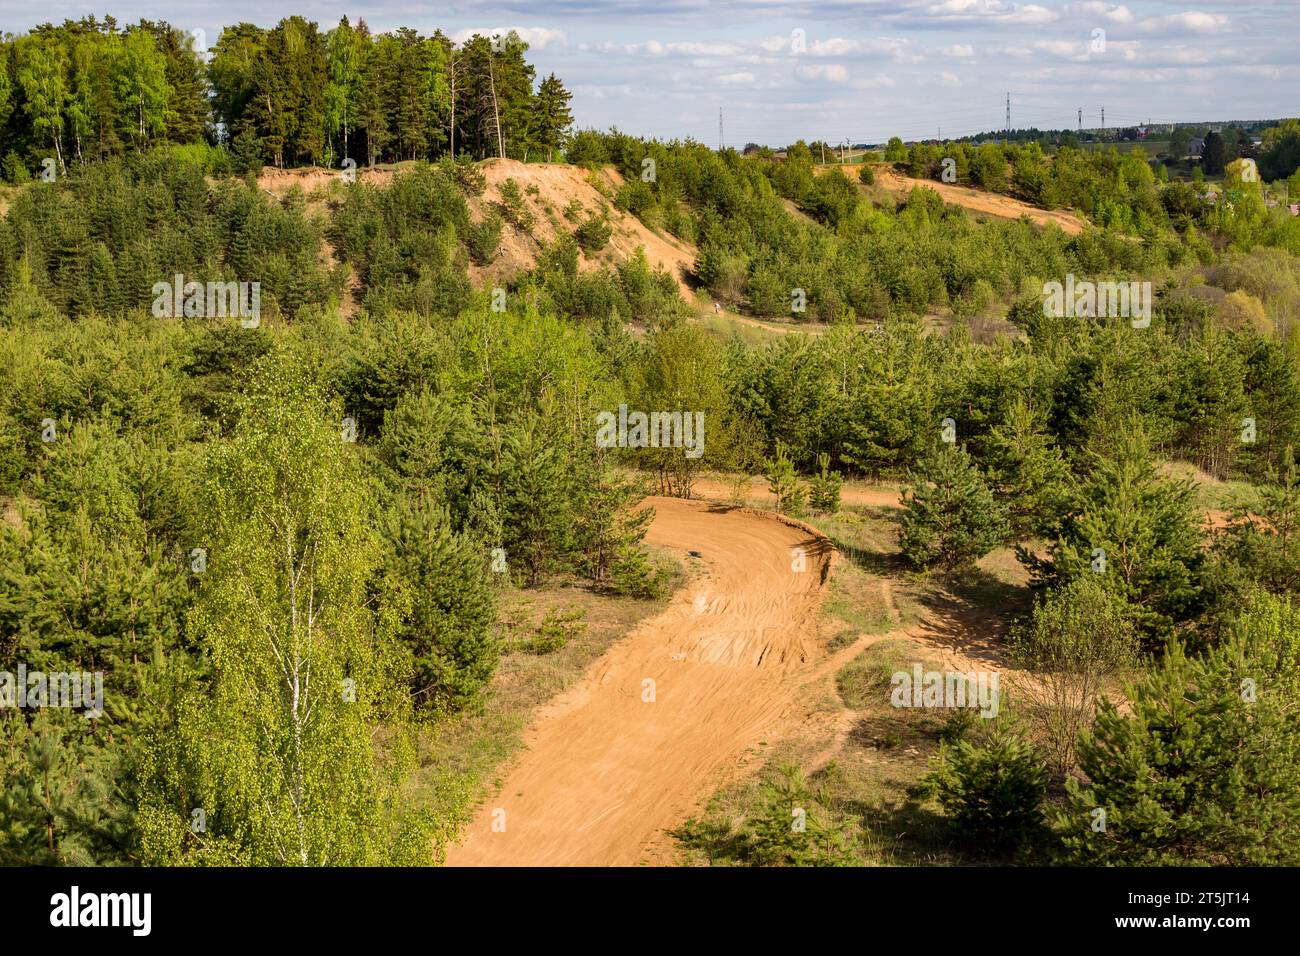
[[[142,814],[155,862],[437,860],[437,826],[396,805],[410,766],[408,669],[390,636],[402,609],[368,606],[380,549],[361,466],[311,375],[268,355],[211,459],[190,630],[212,679],[155,750],[151,777],[170,778]]]

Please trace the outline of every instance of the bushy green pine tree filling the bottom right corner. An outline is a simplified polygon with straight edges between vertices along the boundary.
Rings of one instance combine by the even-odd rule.
[[[1056,819],[1075,862],[1295,866],[1300,862],[1300,611],[1261,597],[1202,658],[1176,641],[1102,701]]]

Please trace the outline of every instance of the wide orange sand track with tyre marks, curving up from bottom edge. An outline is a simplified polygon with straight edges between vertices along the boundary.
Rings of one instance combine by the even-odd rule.
[[[647,541],[701,551],[688,558],[698,576],[534,717],[528,749],[448,852],[448,866],[656,857],[647,848],[662,849],[664,829],[680,825],[746,748],[798,719],[798,688],[818,657],[829,542],[771,514],[649,503],[656,514]]]

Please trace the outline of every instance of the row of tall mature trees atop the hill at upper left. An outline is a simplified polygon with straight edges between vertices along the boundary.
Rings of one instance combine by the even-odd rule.
[[[112,17],[4,39],[0,173],[21,182],[165,143],[222,147],[204,153],[211,172],[537,160],[555,156],[572,124],[571,94],[554,74],[536,82],[515,33],[458,44],[442,31],[372,34],[346,17],[322,31],[295,16],[238,23],[199,47],[169,23]]]

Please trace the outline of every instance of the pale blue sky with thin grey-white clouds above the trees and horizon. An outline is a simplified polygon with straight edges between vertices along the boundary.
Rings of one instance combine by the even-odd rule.
[[[515,29],[580,126],[728,146],[880,142],[1013,126],[1300,114],[1300,0],[0,0],[0,26],[110,13],[214,39],[224,23],[344,13],[372,30]]]

